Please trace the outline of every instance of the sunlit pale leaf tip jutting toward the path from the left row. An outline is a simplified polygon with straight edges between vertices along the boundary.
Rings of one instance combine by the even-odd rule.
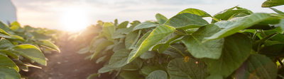
[[[52,42],[50,41],[47,41],[47,40],[40,40],[37,42],[37,44],[43,46],[43,47],[47,47],[49,49],[53,49],[53,50],[56,50],[56,51],[59,51],[60,52],[60,49],[55,45],[53,44]]]

